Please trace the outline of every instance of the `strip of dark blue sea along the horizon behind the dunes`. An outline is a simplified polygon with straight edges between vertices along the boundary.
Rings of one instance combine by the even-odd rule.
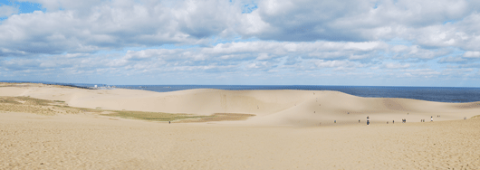
[[[5,81],[4,81],[5,82]],[[92,88],[95,84],[57,83],[43,81],[14,81],[45,84],[69,85]],[[449,103],[466,103],[480,101],[480,88],[462,87],[400,87],[400,86],[322,86],[322,85],[107,85],[96,84],[104,89],[130,89],[168,92],[177,90],[216,89],[216,90],[335,90],[365,98],[404,98],[439,101]]]

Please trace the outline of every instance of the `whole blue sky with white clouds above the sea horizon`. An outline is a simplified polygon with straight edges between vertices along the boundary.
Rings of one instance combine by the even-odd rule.
[[[480,1],[0,0],[0,80],[480,87]]]

